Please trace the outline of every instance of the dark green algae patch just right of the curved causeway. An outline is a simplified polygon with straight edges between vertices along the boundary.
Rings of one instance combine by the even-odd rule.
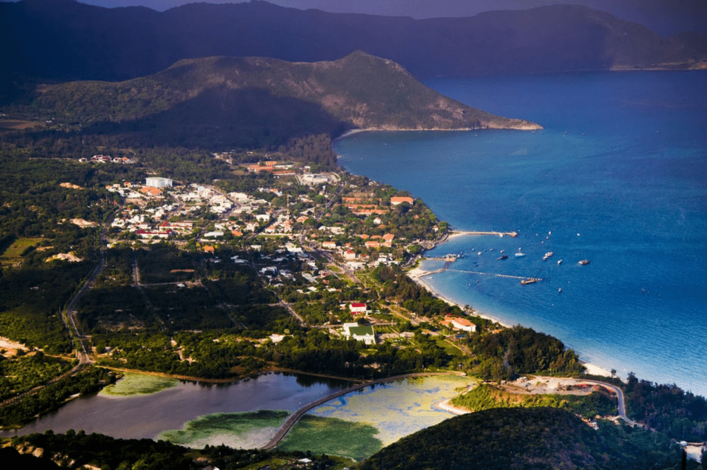
[[[368,423],[304,415],[277,448],[363,460],[382,449],[377,434],[378,429]]]

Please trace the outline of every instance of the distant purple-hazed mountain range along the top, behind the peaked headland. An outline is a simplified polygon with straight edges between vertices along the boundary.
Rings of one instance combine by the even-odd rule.
[[[470,18],[297,10],[253,0],[187,4],[162,13],[74,0],[0,3],[0,78],[124,80],[180,59],[226,55],[331,61],[356,50],[415,76],[699,67],[707,38],[662,38],[643,25],[576,5]]]

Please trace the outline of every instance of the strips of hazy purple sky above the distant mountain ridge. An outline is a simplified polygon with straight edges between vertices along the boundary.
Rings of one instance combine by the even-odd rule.
[[[79,0],[106,7],[143,5],[158,11],[195,0]],[[204,0],[201,0],[204,1]],[[238,0],[205,0],[240,3]],[[642,23],[661,35],[683,30],[707,33],[707,0],[268,0],[291,8],[318,8],[335,13],[438,18],[474,16],[489,10],[522,10],[549,4],[584,4],[619,18]]]

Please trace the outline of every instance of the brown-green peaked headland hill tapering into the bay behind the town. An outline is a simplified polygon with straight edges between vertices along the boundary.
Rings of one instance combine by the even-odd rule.
[[[184,59],[158,74],[122,82],[41,86],[14,108],[122,134],[136,143],[185,147],[272,147],[351,129],[538,129],[447,98],[395,62],[363,52],[334,62],[262,57]]]

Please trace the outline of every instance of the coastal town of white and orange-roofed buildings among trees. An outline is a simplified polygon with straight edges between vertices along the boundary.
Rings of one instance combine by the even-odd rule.
[[[228,153],[214,158],[232,165]],[[312,173],[310,166],[273,160],[233,168],[267,184],[228,191],[217,183],[148,176],[106,185],[118,196],[118,208],[103,230],[105,248],[149,250],[159,244],[201,253],[211,265],[252,268],[303,326],[328,327],[324,331],[332,336],[366,345],[413,344],[413,333],[397,331],[403,322],[432,322],[435,331],[446,332],[440,338],[448,337],[450,343],[476,331],[467,318],[470,309],[455,307],[454,314],[448,312],[439,321],[419,317],[397,302],[380,302],[374,292],[372,270],[380,265],[409,266],[447,235],[447,224],[423,202],[343,171]],[[203,287],[199,280],[182,280],[194,269],[177,271],[182,277],[173,284]],[[344,298],[342,288],[359,292],[359,297]],[[303,308],[303,299],[322,296],[339,303],[327,311]]]

